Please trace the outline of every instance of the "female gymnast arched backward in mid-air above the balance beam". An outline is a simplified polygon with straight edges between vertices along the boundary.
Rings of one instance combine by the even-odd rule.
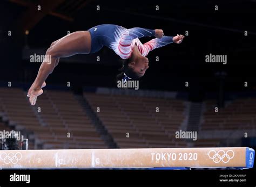
[[[142,44],[138,39],[141,37],[156,38]],[[184,35],[179,34],[176,37],[164,36],[163,30],[160,29],[150,30],[139,27],[126,29],[110,24],[98,25],[87,31],[73,32],[52,42],[46,51],[47,57],[28,91],[29,102],[31,105],[36,104],[37,97],[43,93],[42,88],[46,85],[46,78],[57,66],[60,57],[96,53],[106,46],[125,59],[121,68],[122,73],[117,75],[117,80],[137,79],[149,68],[149,59],[146,56],[150,51],[172,42],[180,44],[183,39]]]

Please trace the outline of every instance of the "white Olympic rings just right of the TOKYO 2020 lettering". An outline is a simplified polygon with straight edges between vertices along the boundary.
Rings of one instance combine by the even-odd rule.
[[[215,163],[219,163],[220,161],[222,161],[223,163],[227,163],[231,159],[233,159],[234,152],[233,150],[227,150],[227,152],[225,152],[224,150],[218,150],[218,152],[216,152],[215,150],[210,150],[208,156]]]

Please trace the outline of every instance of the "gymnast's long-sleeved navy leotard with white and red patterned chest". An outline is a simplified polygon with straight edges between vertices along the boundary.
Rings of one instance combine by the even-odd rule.
[[[103,24],[92,27],[88,30],[91,34],[91,52],[96,53],[103,46],[113,49],[122,59],[128,59],[135,45],[139,52],[146,56],[155,48],[163,47],[173,42],[173,37],[164,36],[160,39],[154,38],[145,44],[139,41],[141,37],[153,37],[154,30],[134,27],[126,29],[122,26]]]

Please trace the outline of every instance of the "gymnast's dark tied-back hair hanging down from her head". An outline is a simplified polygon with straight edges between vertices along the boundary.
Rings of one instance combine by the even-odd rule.
[[[130,62],[131,58],[123,60],[123,66],[119,69],[119,71],[122,71],[122,73],[117,75],[116,81],[122,81],[122,79],[124,79],[125,77],[129,77],[132,79],[139,78],[139,75],[136,72],[134,72],[134,70],[131,67],[129,67]]]

